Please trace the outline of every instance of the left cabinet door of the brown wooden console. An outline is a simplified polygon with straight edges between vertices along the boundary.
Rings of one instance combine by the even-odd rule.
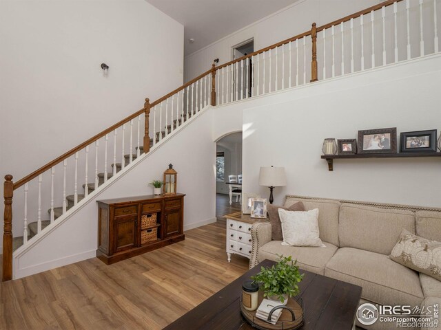
[[[115,218],[114,220],[114,253],[136,246],[137,217]]]

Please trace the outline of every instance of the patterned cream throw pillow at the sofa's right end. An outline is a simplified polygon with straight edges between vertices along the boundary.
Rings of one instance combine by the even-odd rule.
[[[389,257],[441,281],[441,242],[423,239],[403,229]]]

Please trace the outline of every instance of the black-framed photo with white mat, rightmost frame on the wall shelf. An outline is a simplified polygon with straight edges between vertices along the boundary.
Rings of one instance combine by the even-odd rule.
[[[436,129],[400,134],[400,153],[436,153]]]

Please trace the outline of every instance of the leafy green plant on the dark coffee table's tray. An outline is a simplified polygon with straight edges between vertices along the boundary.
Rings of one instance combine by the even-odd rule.
[[[265,298],[279,300],[286,305],[288,298],[298,294],[298,283],[304,275],[298,271],[297,260],[292,261],[291,256],[278,256],[275,265],[262,267],[252,280],[258,283]]]

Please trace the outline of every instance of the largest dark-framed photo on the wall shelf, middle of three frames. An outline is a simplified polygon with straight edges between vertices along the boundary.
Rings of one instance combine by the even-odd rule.
[[[358,153],[396,153],[397,128],[358,131]]]

